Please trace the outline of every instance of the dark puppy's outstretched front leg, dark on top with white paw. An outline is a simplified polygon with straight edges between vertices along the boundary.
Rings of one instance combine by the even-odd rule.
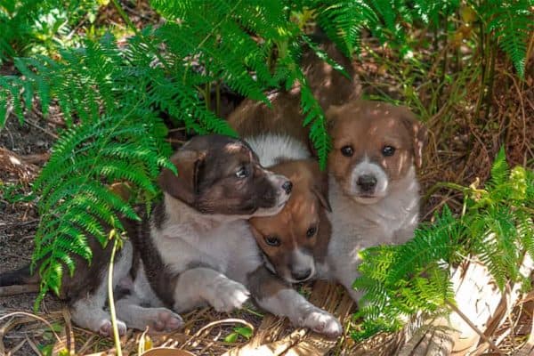
[[[267,312],[285,316],[297,327],[311,328],[328,337],[342,334],[336,317],[308,302],[263,266],[248,275],[247,284],[255,301]]]

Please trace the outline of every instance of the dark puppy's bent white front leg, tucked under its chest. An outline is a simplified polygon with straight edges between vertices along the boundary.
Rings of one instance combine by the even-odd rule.
[[[173,309],[177,312],[191,310],[205,302],[217,312],[231,312],[240,308],[249,296],[241,283],[211,268],[193,268],[176,278]]]

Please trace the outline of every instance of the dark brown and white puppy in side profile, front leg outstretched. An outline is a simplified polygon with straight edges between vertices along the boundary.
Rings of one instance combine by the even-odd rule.
[[[133,233],[141,252],[132,295],[117,302],[129,326],[173,328],[176,314],[209,304],[219,312],[239,308],[249,295],[266,311],[328,336],[339,322],[308,303],[263,266],[247,219],[278,214],[291,182],[260,165],[247,143],[198,136],[171,158],[179,175],[164,170],[164,201],[150,223]]]

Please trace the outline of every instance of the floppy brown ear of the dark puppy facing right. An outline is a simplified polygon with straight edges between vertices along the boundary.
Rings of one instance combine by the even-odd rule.
[[[158,177],[161,189],[174,198],[193,204],[198,194],[198,175],[205,157],[206,153],[202,151],[178,150],[171,157],[178,174],[165,168]]]

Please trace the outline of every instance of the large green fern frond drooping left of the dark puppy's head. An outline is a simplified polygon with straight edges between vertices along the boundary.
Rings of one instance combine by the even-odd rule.
[[[103,117],[69,129],[53,148],[53,157],[44,166],[35,190],[41,223],[36,232],[35,263],[44,289],[59,293],[61,264],[72,274],[72,255],[90,261],[92,252],[87,237],[106,243],[107,230],[123,229],[119,215],[136,219],[132,206],[110,193],[102,182],[126,181],[145,191],[156,192],[158,169],[166,166],[166,151],[156,142],[165,136],[150,136],[154,131],[147,117]],[[109,142],[111,144],[109,144]],[[120,144],[123,143],[124,146]],[[138,153],[125,152],[125,148]]]

